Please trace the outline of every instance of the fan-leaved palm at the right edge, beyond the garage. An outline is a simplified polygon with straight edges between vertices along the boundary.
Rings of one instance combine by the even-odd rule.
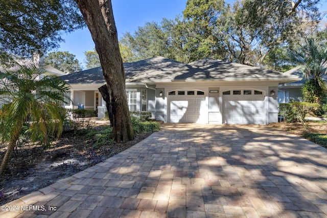
[[[293,53],[294,61],[302,66],[303,77],[308,79],[302,88],[305,100],[319,103],[326,92],[322,77],[327,74],[327,47],[312,38]]]

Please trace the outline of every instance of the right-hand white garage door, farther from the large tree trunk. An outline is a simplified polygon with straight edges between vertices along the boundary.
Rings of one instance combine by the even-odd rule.
[[[263,91],[223,92],[223,120],[226,124],[264,124],[264,109]]]

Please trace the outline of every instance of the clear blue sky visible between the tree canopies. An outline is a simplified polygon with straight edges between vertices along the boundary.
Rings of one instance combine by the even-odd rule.
[[[118,37],[123,33],[134,33],[138,27],[144,26],[146,22],[160,22],[162,18],[174,19],[182,14],[187,0],[112,0],[113,15],[118,31]],[[225,0],[233,3],[234,0]],[[327,10],[327,0],[322,0],[318,6],[321,11]],[[85,66],[84,52],[91,51],[95,47],[87,28],[77,30],[71,34],[63,34],[65,42],[60,43],[56,51],[68,51],[76,55],[79,62]]]

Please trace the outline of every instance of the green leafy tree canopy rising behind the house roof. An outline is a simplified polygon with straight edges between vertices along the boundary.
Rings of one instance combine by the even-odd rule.
[[[318,0],[188,0],[182,16],[147,22],[121,43],[137,59],[157,55],[189,63],[217,58],[287,70],[286,48],[321,20]],[[306,26],[306,27],[303,27]]]

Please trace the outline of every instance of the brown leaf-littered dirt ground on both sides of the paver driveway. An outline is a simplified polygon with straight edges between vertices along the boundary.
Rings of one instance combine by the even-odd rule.
[[[108,123],[90,122],[89,125],[97,129]],[[307,129],[300,123],[275,123],[270,126],[298,136],[302,136],[305,131],[327,134],[327,124],[314,122],[307,123]],[[72,130],[64,131],[48,150],[20,142],[9,163],[10,173],[0,181],[0,205],[83,171],[130,148],[149,135],[139,134],[133,141],[102,148],[93,148],[92,141],[83,140],[80,134]],[[4,148],[0,148],[0,157],[5,151]]]

